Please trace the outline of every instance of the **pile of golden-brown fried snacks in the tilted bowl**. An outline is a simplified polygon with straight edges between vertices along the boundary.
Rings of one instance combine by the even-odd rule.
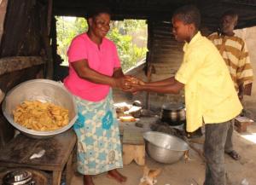
[[[41,101],[23,101],[13,114],[15,123],[37,131],[58,130],[69,120],[67,109]]]

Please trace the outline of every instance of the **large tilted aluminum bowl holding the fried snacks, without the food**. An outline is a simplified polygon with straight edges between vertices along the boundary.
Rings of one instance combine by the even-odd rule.
[[[29,130],[20,124],[15,123],[13,110],[23,101],[49,101],[55,105],[65,107],[68,110],[69,124],[59,130],[53,131],[37,131]],[[15,86],[6,95],[3,104],[3,115],[8,119],[9,123],[15,126],[26,136],[32,138],[48,138],[60,134],[70,129],[77,119],[77,107],[71,95],[63,84],[49,79],[33,79]]]

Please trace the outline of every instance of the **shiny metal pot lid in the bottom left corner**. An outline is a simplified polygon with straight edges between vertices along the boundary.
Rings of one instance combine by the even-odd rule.
[[[32,173],[30,171],[10,171],[5,176],[3,176],[3,182],[6,184],[25,184],[30,180],[32,180]]]

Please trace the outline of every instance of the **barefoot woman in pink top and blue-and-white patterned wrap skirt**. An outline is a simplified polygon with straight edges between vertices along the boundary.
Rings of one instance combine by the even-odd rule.
[[[118,182],[126,181],[116,170],[123,163],[111,87],[122,89],[129,82],[125,81],[115,45],[105,38],[109,22],[108,9],[91,10],[88,32],[73,38],[67,51],[69,75],[64,84],[79,110],[73,128],[78,136],[78,171],[84,175],[84,185],[94,185],[91,175],[105,171]]]

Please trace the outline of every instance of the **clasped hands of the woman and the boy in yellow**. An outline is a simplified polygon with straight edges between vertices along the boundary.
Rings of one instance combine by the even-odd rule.
[[[122,78],[122,85],[120,87],[121,90],[125,92],[131,92],[133,94],[137,93],[137,91],[142,90],[142,86],[145,83],[143,80],[139,78],[132,77],[130,75],[125,75]]]

